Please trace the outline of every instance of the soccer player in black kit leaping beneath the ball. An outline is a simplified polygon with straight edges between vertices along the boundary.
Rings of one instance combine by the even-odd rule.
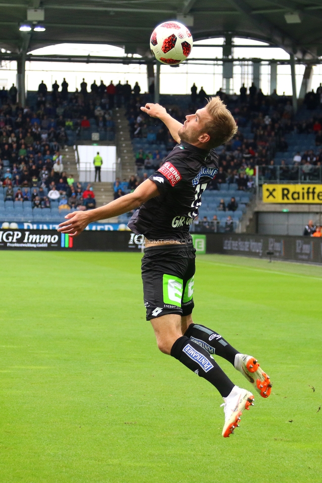
[[[128,226],[145,236],[141,271],[146,319],[151,321],[162,352],[218,389],[224,399],[222,434],[228,437],[238,426],[242,411],[253,405],[254,396],[235,386],[213,356],[227,359],[263,397],[270,395],[272,385],[254,357],[240,353],[217,331],[194,324],[195,250],[189,227],[198,215],[201,194],[218,171],[214,148],[229,141],[237,126],[219,97],[187,115],[184,124],[159,104],[148,103],[141,110],[161,119],[178,145],[133,193],[91,211],[69,213],[58,231],[76,237],[91,222],[140,207]]]

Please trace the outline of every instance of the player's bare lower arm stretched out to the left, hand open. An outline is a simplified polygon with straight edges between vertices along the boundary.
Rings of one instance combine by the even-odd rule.
[[[157,186],[151,180],[145,180],[138,188],[129,194],[114,199],[105,206],[100,206],[89,211],[73,211],[65,216],[67,221],[60,223],[58,232],[68,233],[70,237],[77,237],[89,223],[122,215],[135,208],[150,198],[159,196]]]

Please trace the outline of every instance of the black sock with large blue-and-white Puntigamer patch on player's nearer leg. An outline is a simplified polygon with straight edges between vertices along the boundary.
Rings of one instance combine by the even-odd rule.
[[[230,394],[234,384],[208,352],[189,338],[182,336],[171,348],[171,355],[198,376],[203,377],[218,389],[223,397]]]

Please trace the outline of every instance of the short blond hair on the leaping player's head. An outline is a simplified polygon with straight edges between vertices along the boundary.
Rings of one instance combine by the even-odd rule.
[[[209,147],[214,148],[227,143],[238,131],[236,121],[220,97],[211,97],[206,109],[211,121],[206,122],[206,132],[210,136]]]

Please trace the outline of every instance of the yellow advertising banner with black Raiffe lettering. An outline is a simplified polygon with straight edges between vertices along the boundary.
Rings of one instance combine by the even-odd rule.
[[[322,204],[322,185],[263,185],[263,201]]]

